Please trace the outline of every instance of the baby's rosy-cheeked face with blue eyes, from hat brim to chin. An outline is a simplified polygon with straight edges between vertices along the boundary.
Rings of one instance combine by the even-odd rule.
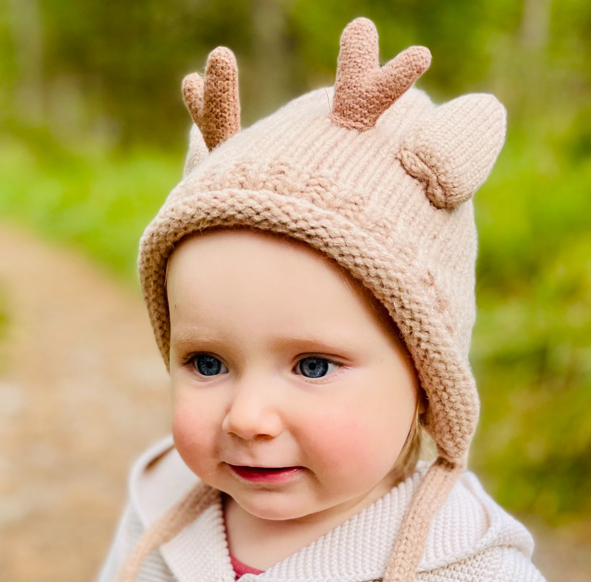
[[[390,489],[417,380],[339,267],[217,231],[174,251],[167,290],[173,434],[197,476],[274,520],[345,515]]]

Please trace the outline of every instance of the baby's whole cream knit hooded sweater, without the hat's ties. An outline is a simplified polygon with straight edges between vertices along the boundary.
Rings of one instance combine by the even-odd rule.
[[[381,580],[415,489],[427,470],[420,463],[406,481],[333,531],[242,582],[368,582]],[[174,505],[197,477],[174,450],[159,442],[135,463],[129,503],[99,582],[111,582],[145,528]],[[469,472],[436,514],[415,580],[423,582],[544,582],[530,561],[530,534]],[[160,551],[145,560],[140,582],[233,582],[220,497]]]

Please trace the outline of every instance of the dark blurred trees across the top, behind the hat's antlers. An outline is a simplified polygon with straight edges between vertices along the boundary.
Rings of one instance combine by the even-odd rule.
[[[177,143],[187,121],[180,80],[217,44],[238,56],[246,124],[332,83],[340,32],[362,14],[378,25],[382,60],[430,47],[437,66],[420,83],[441,99],[492,88],[519,122],[566,99],[578,109],[590,92],[591,8],[580,0],[4,2],[11,117],[41,112],[54,130],[70,123],[74,135],[118,144]]]

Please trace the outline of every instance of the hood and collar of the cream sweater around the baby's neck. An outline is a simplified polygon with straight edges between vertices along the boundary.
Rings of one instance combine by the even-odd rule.
[[[402,519],[429,463],[345,523],[290,555],[263,574],[242,582],[358,582],[382,578]],[[131,473],[132,509],[148,528],[191,489],[198,479],[174,449],[171,437],[140,457]],[[530,533],[483,490],[478,478],[462,474],[434,517],[418,572],[446,567],[495,547],[511,547],[531,557]],[[160,548],[179,582],[234,580],[221,496],[187,528]]]

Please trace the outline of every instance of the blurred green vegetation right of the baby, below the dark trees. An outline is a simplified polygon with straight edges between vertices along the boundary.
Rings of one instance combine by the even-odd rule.
[[[509,139],[476,199],[472,467],[549,523],[591,516],[591,158],[568,145]]]

